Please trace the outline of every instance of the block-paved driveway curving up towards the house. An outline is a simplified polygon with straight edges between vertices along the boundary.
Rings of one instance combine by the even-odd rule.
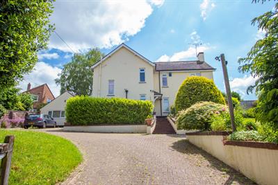
[[[83,164],[63,184],[253,184],[184,136],[44,131],[83,152]]]

